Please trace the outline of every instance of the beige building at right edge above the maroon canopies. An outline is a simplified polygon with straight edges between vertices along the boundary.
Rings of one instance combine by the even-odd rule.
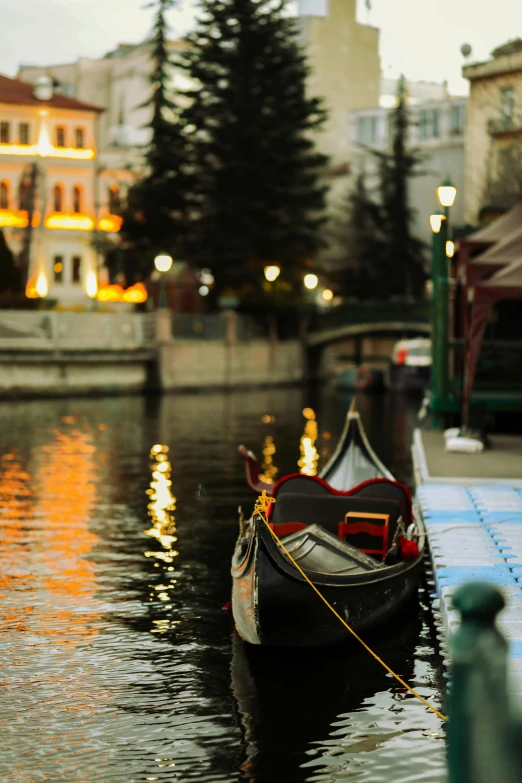
[[[475,225],[483,209],[501,211],[522,197],[522,40],[466,65],[463,75],[470,85],[466,222]]]

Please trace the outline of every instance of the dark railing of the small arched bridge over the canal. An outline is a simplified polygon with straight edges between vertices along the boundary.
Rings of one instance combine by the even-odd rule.
[[[431,319],[428,300],[345,301],[336,307],[315,312],[310,331],[326,331],[346,325],[373,323],[426,323]]]

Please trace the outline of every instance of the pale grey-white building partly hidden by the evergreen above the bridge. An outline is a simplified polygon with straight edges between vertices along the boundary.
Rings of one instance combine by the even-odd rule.
[[[451,210],[452,223],[460,226],[465,219],[467,99],[449,96],[445,85],[439,85],[439,88],[439,97],[433,99],[433,95],[437,95],[435,85],[425,82],[407,85],[411,118],[409,142],[424,158],[419,176],[410,183],[409,196],[410,204],[415,209],[414,233],[425,242],[431,242],[429,215],[437,204],[436,188],[447,177],[458,192]],[[414,97],[410,98],[411,95]],[[385,102],[389,104],[388,100]],[[365,172],[370,187],[375,182],[376,162],[369,150],[389,148],[391,111],[392,108],[380,106],[352,112],[350,115],[353,177],[355,179],[360,172]]]

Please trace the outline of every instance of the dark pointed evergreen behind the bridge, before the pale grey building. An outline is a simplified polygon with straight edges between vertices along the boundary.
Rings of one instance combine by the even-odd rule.
[[[353,262],[346,277],[359,295],[421,296],[424,243],[412,234],[414,212],[408,183],[418,173],[420,155],[408,147],[409,116],[404,80],[397,107],[390,115],[388,151],[369,150],[377,166],[377,188],[370,194],[359,177],[349,195],[347,251]]]

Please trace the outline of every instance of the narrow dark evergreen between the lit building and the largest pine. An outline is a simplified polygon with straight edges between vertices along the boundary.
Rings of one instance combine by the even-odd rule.
[[[173,100],[174,63],[168,51],[167,11],[177,0],[155,0],[150,38],[152,94],[145,106],[152,109],[148,127],[147,174],[130,191],[123,215],[122,244],[107,259],[113,271],[124,271],[127,282],[142,280],[153,269],[158,252],[174,257],[184,253],[186,194],[189,191],[187,150],[180,108]]]

